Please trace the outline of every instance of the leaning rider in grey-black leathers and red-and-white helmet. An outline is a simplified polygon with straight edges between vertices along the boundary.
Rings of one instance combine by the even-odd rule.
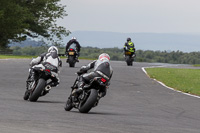
[[[89,73],[87,73],[88,70],[90,70]],[[110,85],[110,79],[113,74],[113,69],[110,65],[110,56],[106,53],[100,54],[98,60],[94,60],[87,66],[82,66],[77,74],[81,75],[77,86],[78,89],[72,88],[72,95],[80,94],[83,91],[84,85],[88,84],[95,77],[104,77],[109,81],[108,85]],[[108,86],[101,92],[101,97],[106,95],[107,88]]]

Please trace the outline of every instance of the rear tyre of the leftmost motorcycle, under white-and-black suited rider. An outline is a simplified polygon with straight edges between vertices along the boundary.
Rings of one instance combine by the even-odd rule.
[[[41,96],[42,91],[44,90],[44,87],[46,85],[46,81],[44,79],[39,79],[37,86],[35,87],[35,90],[32,92],[29,100],[31,102],[36,102],[38,98]]]

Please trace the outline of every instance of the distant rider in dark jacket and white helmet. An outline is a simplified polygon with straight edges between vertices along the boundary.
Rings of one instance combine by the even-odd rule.
[[[79,52],[80,52],[81,46],[75,37],[72,37],[72,39],[67,43],[66,48],[65,48],[66,54],[70,47],[77,50],[76,61],[79,62],[78,57],[79,57]]]

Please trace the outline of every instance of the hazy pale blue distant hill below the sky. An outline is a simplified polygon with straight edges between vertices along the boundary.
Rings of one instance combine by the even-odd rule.
[[[122,48],[131,37],[136,49],[160,51],[200,51],[200,34],[173,33],[116,33],[101,31],[74,31],[64,42],[74,36],[82,46],[98,48]]]

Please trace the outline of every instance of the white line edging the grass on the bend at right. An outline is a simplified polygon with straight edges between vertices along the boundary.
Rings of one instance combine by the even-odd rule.
[[[142,67],[142,70],[143,70],[143,72],[149,77],[149,75],[147,74],[145,68],[155,68],[155,67],[164,67],[164,66]],[[149,78],[150,78],[150,77],[149,77]],[[169,87],[169,86],[166,86],[164,83],[162,83],[162,82],[160,82],[160,81],[158,81],[158,80],[156,80],[156,79],[153,79],[153,80],[157,81],[159,84],[161,84],[162,86],[164,86],[164,87],[166,87],[166,88],[168,88],[168,89],[170,89],[170,90],[173,90],[173,91],[176,91],[176,92],[180,92],[180,93],[182,93],[182,94],[184,94],[184,95],[188,95],[188,96],[200,98],[200,96],[196,96],[196,95],[192,95],[192,94],[189,94],[189,93],[185,93],[185,92],[182,92],[182,91],[179,91],[179,90],[175,90],[174,88],[171,88],[171,87]]]

